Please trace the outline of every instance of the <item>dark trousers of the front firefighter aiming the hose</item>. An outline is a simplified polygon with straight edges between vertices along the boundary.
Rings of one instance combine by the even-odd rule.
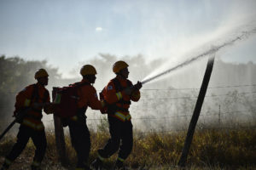
[[[108,116],[108,123],[111,138],[102,150],[98,150],[98,154],[102,158],[108,158],[119,150],[119,160],[125,160],[131,154],[133,144],[131,121],[121,122]]]

